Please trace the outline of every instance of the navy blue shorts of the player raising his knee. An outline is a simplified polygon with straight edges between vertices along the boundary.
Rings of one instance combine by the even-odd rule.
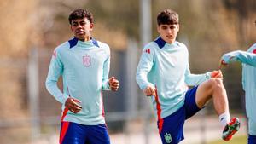
[[[183,107],[163,118],[162,130],[160,131],[163,144],[177,144],[184,139],[183,125],[185,120],[201,110],[195,102],[196,89],[197,87],[194,87],[187,91]]]

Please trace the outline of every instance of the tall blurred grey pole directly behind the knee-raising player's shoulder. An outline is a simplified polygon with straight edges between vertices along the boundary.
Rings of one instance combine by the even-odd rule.
[[[141,46],[151,41],[152,37],[152,25],[151,25],[151,0],[141,0],[141,18],[140,18],[140,29],[141,29]],[[150,111],[148,107],[148,100],[143,99],[144,109],[144,136],[145,144],[149,144],[149,130],[150,130]]]

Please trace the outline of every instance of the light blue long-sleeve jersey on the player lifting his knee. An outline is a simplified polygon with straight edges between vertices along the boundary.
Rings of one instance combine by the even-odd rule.
[[[137,66],[136,80],[141,89],[153,86],[157,96],[151,96],[157,118],[166,118],[184,104],[188,86],[211,78],[210,72],[191,74],[189,52],[183,43],[166,43],[161,37],[148,43]]]

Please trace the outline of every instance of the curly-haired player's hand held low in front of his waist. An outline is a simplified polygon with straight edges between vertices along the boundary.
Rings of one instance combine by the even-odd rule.
[[[69,97],[69,98],[67,98],[67,101],[65,102],[65,107],[67,107],[67,109],[73,113],[78,113],[82,109],[82,107],[79,105],[79,103],[81,103],[81,101],[79,101],[78,99]]]

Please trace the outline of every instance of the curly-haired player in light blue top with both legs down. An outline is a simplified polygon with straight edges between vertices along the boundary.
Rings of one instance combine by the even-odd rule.
[[[62,103],[60,144],[109,144],[102,90],[119,88],[116,78],[108,79],[110,49],[91,37],[90,11],[76,9],[68,20],[74,37],[55,49],[45,82]],[[56,84],[60,76],[63,93]]]

